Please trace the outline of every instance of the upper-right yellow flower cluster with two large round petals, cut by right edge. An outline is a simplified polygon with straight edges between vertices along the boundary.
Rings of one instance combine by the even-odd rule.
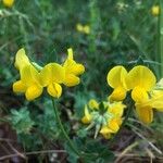
[[[124,66],[115,66],[108,74],[108,84],[114,89],[109,96],[110,101],[121,101],[131,90],[136,112],[141,122],[153,121],[153,109],[163,111],[162,80],[156,78],[147,66],[137,65],[129,72]]]

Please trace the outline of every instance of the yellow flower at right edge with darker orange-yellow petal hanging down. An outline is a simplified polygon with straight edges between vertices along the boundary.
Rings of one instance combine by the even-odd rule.
[[[153,109],[163,112],[163,91],[151,98],[136,102],[137,115],[145,124],[153,121]]]

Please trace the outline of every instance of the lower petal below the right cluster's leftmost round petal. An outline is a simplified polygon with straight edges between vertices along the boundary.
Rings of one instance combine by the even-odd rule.
[[[123,87],[117,87],[113,90],[111,96],[109,96],[109,101],[122,101],[126,98],[126,89]]]

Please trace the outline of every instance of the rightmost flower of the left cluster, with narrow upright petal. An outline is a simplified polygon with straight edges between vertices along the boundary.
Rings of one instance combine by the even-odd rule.
[[[68,57],[66,61],[63,63],[63,67],[65,70],[65,78],[63,84],[72,87],[78,85],[80,79],[78,75],[82,75],[85,72],[85,67],[83,64],[76,63],[73,59],[73,49],[68,49]]]

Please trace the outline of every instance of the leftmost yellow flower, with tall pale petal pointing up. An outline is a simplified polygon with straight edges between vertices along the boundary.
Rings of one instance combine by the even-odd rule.
[[[42,93],[39,72],[30,64],[24,49],[17,51],[15,66],[20,71],[21,79],[13,84],[14,92],[25,92],[27,100],[34,100]]]

